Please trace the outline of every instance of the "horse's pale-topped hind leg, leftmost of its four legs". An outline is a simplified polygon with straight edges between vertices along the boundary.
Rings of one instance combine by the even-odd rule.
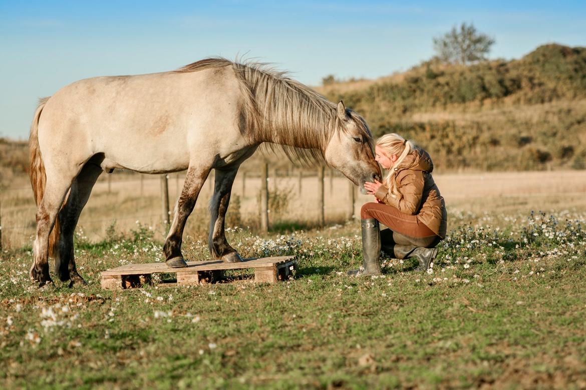
[[[46,171],[46,187],[43,199],[39,202],[36,212],[36,239],[33,247],[34,260],[30,267],[30,277],[39,282],[42,287],[48,282],[53,282],[49,275],[49,234],[53,229],[57,213],[61,209],[63,199],[67,194],[73,180],[73,174],[67,175],[60,172]]]

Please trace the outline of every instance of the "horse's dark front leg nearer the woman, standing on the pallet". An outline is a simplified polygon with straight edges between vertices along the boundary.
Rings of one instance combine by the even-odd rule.
[[[216,169],[216,183],[214,184],[214,195],[210,204],[212,220],[210,222],[209,248],[213,258],[224,261],[224,263],[236,263],[242,261],[238,252],[230,246],[224,233],[224,221],[228,203],[230,203],[230,192],[236,177],[238,168],[230,170]]]

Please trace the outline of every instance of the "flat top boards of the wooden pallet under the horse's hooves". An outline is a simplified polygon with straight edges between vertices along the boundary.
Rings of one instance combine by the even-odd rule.
[[[171,268],[165,263],[128,264],[111,270],[103,271],[102,276],[108,275],[140,275],[154,274],[155,272],[186,272],[186,271],[213,271],[213,270],[239,270],[242,268],[266,268],[274,267],[282,263],[289,263],[294,256],[263,257],[245,259],[241,263],[224,263],[220,260],[212,261],[188,261],[186,268]],[[190,269],[191,268],[191,269]]]

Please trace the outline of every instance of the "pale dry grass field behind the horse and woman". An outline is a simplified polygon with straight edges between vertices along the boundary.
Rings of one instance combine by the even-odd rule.
[[[309,176],[313,175],[313,176]],[[584,210],[586,171],[550,172],[489,172],[466,174],[437,174],[435,181],[446,199],[448,212],[529,212],[530,210]],[[26,178],[15,181],[18,186],[2,193],[2,242],[5,247],[21,247],[32,243],[35,233],[35,205]],[[172,174],[169,179],[169,198],[175,202],[183,185],[183,174]],[[110,191],[108,192],[108,187]],[[142,189],[141,189],[142,187]],[[315,225],[318,220],[317,178],[314,171],[304,171],[299,192],[297,172],[290,177],[270,178],[272,194],[287,197],[281,210],[272,210],[272,225],[290,226],[291,229]],[[244,193],[243,193],[244,189]],[[233,187],[227,226],[250,227],[259,223],[258,192],[260,178],[247,174],[243,188],[240,173]],[[186,234],[205,240],[209,225],[208,201],[212,195],[210,180],[203,186],[196,208],[188,220]],[[356,194],[354,215],[359,216],[360,206],[372,196]],[[349,216],[350,182],[334,175],[325,179],[325,216],[338,222]],[[173,203],[171,204],[171,209]],[[107,229],[114,222],[117,230],[128,232],[137,221],[151,226],[162,239],[161,185],[158,177],[115,172],[103,175],[98,181],[90,201],[81,214],[79,234],[91,241],[104,240]],[[453,227],[453,226],[452,226]]]

